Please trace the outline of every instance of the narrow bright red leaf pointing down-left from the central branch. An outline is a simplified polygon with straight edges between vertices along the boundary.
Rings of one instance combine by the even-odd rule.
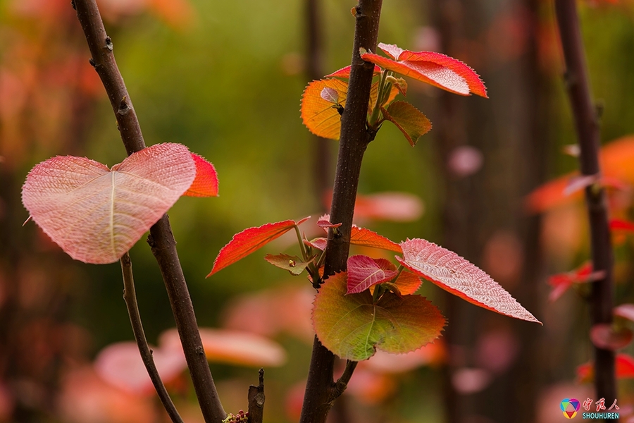
[[[220,269],[224,269],[230,264],[234,264],[238,260],[247,257],[275,238],[284,235],[294,228],[295,225],[301,225],[306,219],[309,218],[305,217],[298,222],[286,220],[277,223],[266,223],[266,225],[258,226],[257,228],[247,228],[240,233],[236,233],[229,243],[218,252],[218,257],[216,257],[216,260],[213,262],[213,268],[206,277],[209,278],[209,276],[215,274]]]

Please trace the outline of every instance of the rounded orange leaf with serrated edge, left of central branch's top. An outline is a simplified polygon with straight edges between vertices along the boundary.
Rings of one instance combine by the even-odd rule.
[[[324,89],[330,88],[338,94],[339,105],[346,105],[348,83],[338,79],[311,82],[302,94],[302,121],[311,133],[330,140],[338,140],[341,129],[341,115],[337,104],[324,99]]]

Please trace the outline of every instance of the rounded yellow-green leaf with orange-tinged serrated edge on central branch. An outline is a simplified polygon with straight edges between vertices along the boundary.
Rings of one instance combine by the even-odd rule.
[[[409,353],[440,336],[445,317],[420,295],[385,292],[373,302],[368,290],[345,295],[346,272],[330,276],[313,304],[319,341],[347,360],[366,360],[376,349]]]

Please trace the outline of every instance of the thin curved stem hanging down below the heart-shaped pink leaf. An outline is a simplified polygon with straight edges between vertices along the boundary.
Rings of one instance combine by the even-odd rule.
[[[139,305],[137,304],[137,294],[135,293],[135,279],[132,276],[132,261],[130,260],[130,254],[127,252],[120,259],[121,271],[123,273],[123,299],[125,305],[128,306],[128,314],[130,314],[130,324],[132,324],[132,332],[135,334],[135,340],[139,347],[139,353],[143,360],[143,364],[147,369],[152,384],[156,389],[156,393],[159,394],[159,399],[163,403],[163,407],[167,411],[170,419],[174,423],[182,423],[182,419],[170,398],[170,394],[163,385],[159,371],[154,364],[154,358],[152,352],[147,345],[147,339],[145,338],[145,331],[143,330],[143,324],[141,322],[141,314],[139,314]]]

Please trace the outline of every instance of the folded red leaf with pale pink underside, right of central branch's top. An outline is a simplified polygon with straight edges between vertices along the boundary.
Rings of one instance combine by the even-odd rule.
[[[361,59],[449,92],[487,98],[478,74],[459,60],[433,51],[402,50],[392,44],[379,43],[378,47],[394,60],[373,53],[361,54]]]

